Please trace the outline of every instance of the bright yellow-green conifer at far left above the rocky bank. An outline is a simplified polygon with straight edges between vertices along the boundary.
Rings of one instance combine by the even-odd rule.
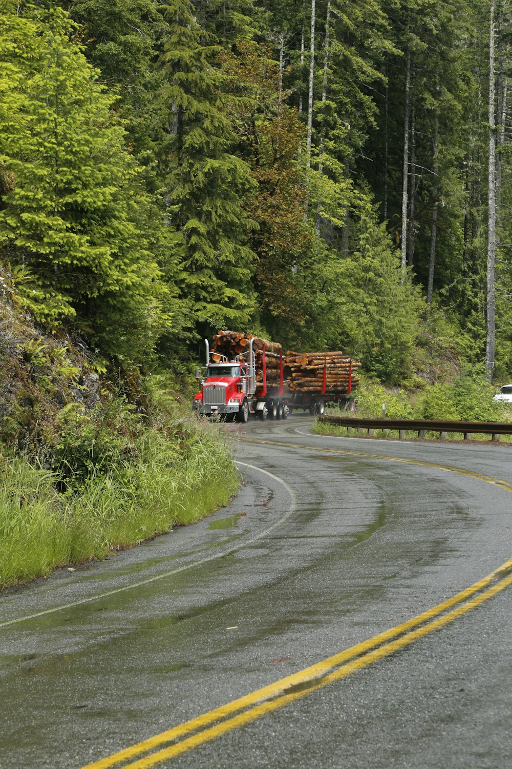
[[[127,328],[144,345],[154,340],[159,271],[123,128],[61,8],[21,19],[12,9],[2,22],[0,62],[13,73],[1,159],[14,185],[2,200],[0,247],[31,272],[25,301],[38,321],[76,316],[91,341],[138,355]]]

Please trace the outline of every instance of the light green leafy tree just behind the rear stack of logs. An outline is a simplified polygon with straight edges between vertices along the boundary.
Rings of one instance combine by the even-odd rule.
[[[315,329],[322,344],[359,358],[386,384],[407,378],[424,305],[364,201],[350,255],[328,252],[319,270]]]

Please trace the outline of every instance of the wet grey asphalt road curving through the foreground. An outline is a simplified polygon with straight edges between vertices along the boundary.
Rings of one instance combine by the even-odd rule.
[[[391,460],[510,482],[512,446],[325,438],[310,424],[226,426],[244,478],[229,508],[2,594],[1,769],[81,769],[406,621],[510,558],[510,491]],[[507,766],[511,604],[509,588],[158,765]]]

